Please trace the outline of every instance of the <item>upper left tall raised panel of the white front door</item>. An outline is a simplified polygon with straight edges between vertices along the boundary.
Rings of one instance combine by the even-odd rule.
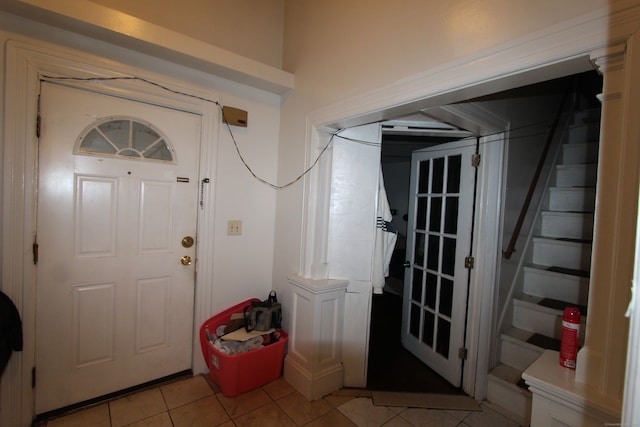
[[[76,176],[75,204],[76,255],[115,255],[117,178]]]

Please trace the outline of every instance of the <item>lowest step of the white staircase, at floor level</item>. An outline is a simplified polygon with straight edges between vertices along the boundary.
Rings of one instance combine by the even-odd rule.
[[[505,364],[499,364],[489,372],[487,400],[508,409],[518,417],[531,419],[531,392],[518,386],[522,381],[522,371]]]

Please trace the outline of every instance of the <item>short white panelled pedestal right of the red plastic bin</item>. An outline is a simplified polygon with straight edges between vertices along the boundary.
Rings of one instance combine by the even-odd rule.
[[[289,276],[291,321],[284,377],[309,400],[342,388],[346,280]]]

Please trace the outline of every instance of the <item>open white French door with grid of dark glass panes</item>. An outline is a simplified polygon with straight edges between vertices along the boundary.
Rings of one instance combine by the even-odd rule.
[[[461,384],[467,313],[475,140],[411,158],[402,343],[451,384]]]

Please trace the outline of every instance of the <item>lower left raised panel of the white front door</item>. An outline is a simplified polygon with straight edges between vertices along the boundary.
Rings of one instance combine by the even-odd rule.
[[[73,288],[74,367],[110,362],[115,358],[115,284]]]

